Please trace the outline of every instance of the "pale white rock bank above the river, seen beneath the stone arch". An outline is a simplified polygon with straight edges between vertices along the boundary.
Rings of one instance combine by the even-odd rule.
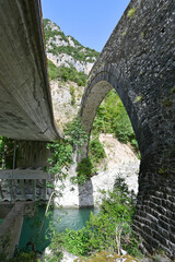
[[[124,178],[129,190],[138,192],[138,172],[140,162],[128,145],[120,143],[110,134],[102,134],[106,159],[100,166],[100,171],[83,186],[72,184],[71,177],[77,176],[75,164],[69,170],[65,180],[62,196],[55,199],[56,205],[63,207],[98,206],[103,194],[100,190],[113,190],[117,178]],[[74,156],[75,157],[75,156]],[[62,182],[56,184],[58,191]]]

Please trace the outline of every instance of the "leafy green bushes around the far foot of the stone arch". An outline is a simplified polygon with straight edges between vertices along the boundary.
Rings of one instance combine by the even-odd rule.
[[[83,131],[79,118],[67,123],[63,135],[63,139],[47,145],[51,150],[51,158],[48,159],[50,164],[49,172],[59,180],[66,178],[67,170],[70,164],[73,163],[74,150],[80,148],[78,154],[81,155],[81,146],[88,142],[88,134]],[[90,155],[78,164],[77,176],[71,177],[72,183],[84,184],[94,175],[96,164],[105,156],[105,151],[98,139],[91,141]]]

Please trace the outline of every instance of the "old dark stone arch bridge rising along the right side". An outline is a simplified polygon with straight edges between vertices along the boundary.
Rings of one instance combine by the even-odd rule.
[[[135,229],[145,252],[175,257],[175,2],[132,0],[90,73],[81,117],[90,133],[115,88],[131,120],[141,168]]]

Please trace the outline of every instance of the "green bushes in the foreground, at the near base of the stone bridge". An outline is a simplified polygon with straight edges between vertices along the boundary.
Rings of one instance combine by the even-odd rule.
[[[131,230],[135,194],[128,191],[121,179],[116,181],[113,192],[103,193],[100,213],[91,213],[85,227],[80,230],[68,228],[65,233],[54,236],[50,246],[54,252],[58,252],[61,247],[77,255],[90,255],[102,250],[120,252],[118,247],[131,254],[138,252],[138,242]]]

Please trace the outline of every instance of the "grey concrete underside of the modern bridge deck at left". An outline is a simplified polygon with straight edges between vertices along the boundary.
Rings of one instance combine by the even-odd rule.
[[[0,134],[50,141],[54,123],[39,1],[0,0]]]

